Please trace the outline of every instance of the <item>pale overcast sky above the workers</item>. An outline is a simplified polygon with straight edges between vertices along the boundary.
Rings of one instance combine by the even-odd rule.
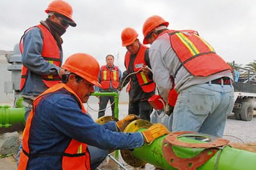
[[[152,15],[170,22],[169,29],[198,30],[225,61],[246,65],[256,60],[256,1],[252,0],[66,0],[77,26],[62,36],[64,60],[73,53],[89,53],[105,64],[116,56],[124,71],[126,48],[121,32],[133,27],[142,42],[142,25]],[[13,50],[27,28],[45,20],[49,0],[1,0],[0,50]]]

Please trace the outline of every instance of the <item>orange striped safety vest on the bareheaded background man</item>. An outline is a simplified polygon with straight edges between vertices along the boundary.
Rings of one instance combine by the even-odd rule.
[[[110,83],[112,87],[117,89],[119,85],[119,71],[118,67],[114,66],[114,69],[107,68],[106,65],[101,66],[101,89],[109,89]]]

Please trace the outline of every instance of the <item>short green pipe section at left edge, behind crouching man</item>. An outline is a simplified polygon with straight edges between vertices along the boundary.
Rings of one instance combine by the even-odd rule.
[[[12,108],[9,105],[0,105],[0,128],[8,128],[12,124],[25,122],[24,115],[24,107]]]

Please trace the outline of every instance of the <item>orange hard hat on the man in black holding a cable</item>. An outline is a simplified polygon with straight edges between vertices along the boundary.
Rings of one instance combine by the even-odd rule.
[[[122,46],[126,47],[128,45],[131,45],[132,43],[134,43],[138,36],[139,34],[137,34],[134,29],[129,27],[125,28],[124,30],[122,30],[121,34]]]

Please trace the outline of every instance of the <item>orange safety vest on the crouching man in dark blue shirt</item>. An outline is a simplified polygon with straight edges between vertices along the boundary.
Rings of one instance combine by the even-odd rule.
[[[77,101],[80,104],[81,110],[86,114],[85,107],[83,106],[83,102],[81,102],[80,98],[73,92],[70,87],[66,86],[66,84],[60,83],[53,87],[50,87],[46,91],[44,91],[40,96],[38,96],[33,103],[33,109],[31,110],[29,117],[27,119],[27,123],[25,126],[25,130],[22,136],[22,151],[19,161],[18,169],[27,169],[27,164],[29,159],[33,158],[33,154],[30,154],[29,148],[29,136],[30,136],[30,125],[33,121],[35,114],[43,114],[43,113],[35,113],[35,107],[39,104],[40,100],[45,94],[49,94],[52,92],[56,92],[60,89],[66,89],[71,94],[73,94]],[[80,141],[71,140],[70,144],[66,148],[64,153],[59,153],[62,156],[62,169],[91,169],[90,159],[89,159],[89,151],[87,145],[85,143],[81,143]],[[51,155],[50,153],[48,154]],[[56,155],[56,153],[54,153]],[[37,154],[37,157],[40,154]],[[45,156],[45,155],[43,155]]]

